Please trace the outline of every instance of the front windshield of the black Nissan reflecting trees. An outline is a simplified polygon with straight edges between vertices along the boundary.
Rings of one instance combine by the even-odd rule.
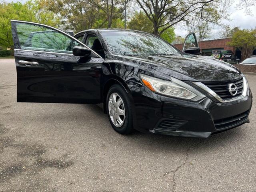
[[[102,32],[108,48],[117,55],[179,54],[170,44],[152,34],[140,32]]]

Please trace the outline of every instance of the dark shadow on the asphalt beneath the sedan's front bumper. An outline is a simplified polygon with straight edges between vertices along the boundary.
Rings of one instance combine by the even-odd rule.
[[[88,107],[88,105],[86,105],[86,107]],[[90,110],[92,113],[95,112],[97,114],[104,114],[102,108],[98,105],[91,105]],[[104,121],[109,121],[107,115],[105,116]],[[208,138],[188,138],[153,133],[142,133],[136,130],[132,134],[122,135],[115,132],[109,122],[108,124],[108,129],[113,130],[111,132],[113,133],[113,136],[121,137],[122,139],[130,141],[133,144],[138,144],[138,146],[154,146],[154,150],[168,150],[170,149],[170,146],[177,149],[179,147],[187,148],[191,146],[194,146],[194,148],[218,149],[220,146],[225,146],[232,141],[239,140],[239,138],[243,137],[244,135],[243,129],[246,128],[246,124],[244,124],[226,132],[221,132],[220,134],[209,136]]]

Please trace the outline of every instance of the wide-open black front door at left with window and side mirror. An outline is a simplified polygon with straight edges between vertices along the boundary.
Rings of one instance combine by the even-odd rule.
[[[96,52],[51,26],[18,20],[11,24],[17,102],[100,102],[103,59]]]

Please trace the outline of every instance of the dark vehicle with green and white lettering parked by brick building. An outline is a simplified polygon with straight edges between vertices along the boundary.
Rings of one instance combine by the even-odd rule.
[[[240,62],[240,59],[231,50],[212,50],[212,56],[229,64],[239,64]]]

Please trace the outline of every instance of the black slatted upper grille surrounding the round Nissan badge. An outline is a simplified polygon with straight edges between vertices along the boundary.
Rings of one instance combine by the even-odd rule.
[[[223,100],[228,100],[230,98],[234,98],[237,96],[242,95],[244,84],[243,84],[243,78],[231,80],[231,81],[222,81],[222,82],[202,82],[204,85],[206,85],[208,88],[213,90],[220,98]],[[229,85],[231,83],[234,83],[237,87],[237,93],[236,95],[232,96],[228,90]]]

